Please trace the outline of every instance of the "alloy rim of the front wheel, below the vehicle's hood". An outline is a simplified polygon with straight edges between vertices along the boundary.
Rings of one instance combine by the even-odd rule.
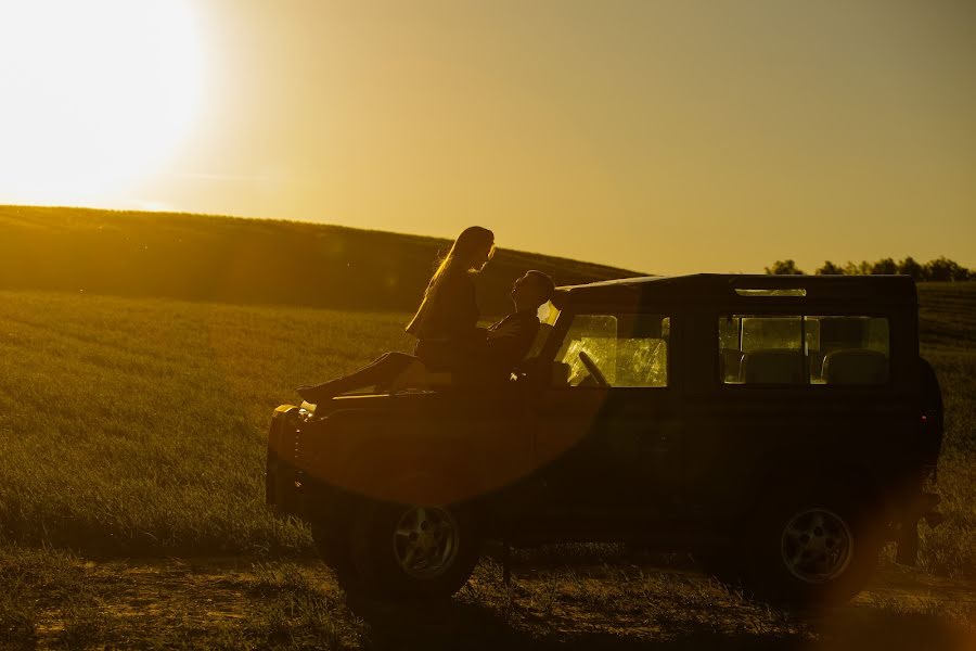
[[[453,514],[441,507],[410,507],[394,529],[394,558],[413,578],[442,575],[454,562],[460,528]]]

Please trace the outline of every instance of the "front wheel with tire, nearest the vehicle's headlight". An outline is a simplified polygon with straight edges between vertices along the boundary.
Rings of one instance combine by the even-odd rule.
[[[468,509],[371,502],[354,518],[357,587],[378,599],[447,599],[471,577],[480,553]]]

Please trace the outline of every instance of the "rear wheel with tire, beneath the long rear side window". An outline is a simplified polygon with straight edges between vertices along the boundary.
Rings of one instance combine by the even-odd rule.
[[[872,500],[804,489],[760,509],[746,583],[757,596],[800,607],[843,603],[861,591],[884,538]]]

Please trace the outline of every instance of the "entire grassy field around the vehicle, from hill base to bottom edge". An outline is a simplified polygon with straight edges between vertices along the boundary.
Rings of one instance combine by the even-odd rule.
[[[929,625],[942,635],[947,621],[972,633],[972,601],[942,597],[976,578],[976,283],[926,285],[921,296],[923,354],[947,407],[947,522],[922,527],[924,574],[912,576],[934,582],[928,600],[899,596],[890,586],[901,571],[886,563],[887,587],[845,611],[851,630],[859,617],[889,628],[907,616],[920,627],[912,635]],[[349,610],[313,562],[307,529],[265,509],[264,446],[271,410],[295,386],[408,348],[403,321],[399,311],[0,291],[0,647],[383,646],[383,631],[406,625],[400,615]],[[210,557],[240,560],[215,570]],[[695,648],[825,639],[816,621],[686,578],[681,559],[652,575],[615,549],[583,569],[551,558],[528,554],[510,589],[483,563],[449,607],[459,612],[441,613],[454,628],[428,615],[428,627],[408,626],[408,646],[425,635],[450,646],[465,630],[578,648],[667,631]],[[155,595],[157,615],[140,609],[140,590]],[[166,633],[138,637],[146,625]]]

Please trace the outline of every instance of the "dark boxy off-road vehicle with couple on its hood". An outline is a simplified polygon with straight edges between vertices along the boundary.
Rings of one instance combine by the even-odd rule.
[[[488,540],[690,551],[807,602],[914,559],[942,414],[911,278],[634,278],[540,319],[502,386],[275,410],[268,503],[347,586],[449,596]]]

